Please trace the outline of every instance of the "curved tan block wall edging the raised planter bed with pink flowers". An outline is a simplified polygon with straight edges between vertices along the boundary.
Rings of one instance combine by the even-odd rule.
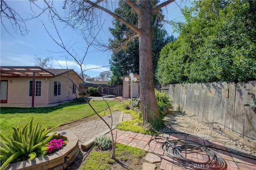
[[[48,136],[52,134],[49,133]],[[58,134],[58,133],[57,133]],[[54,138],[68,140],[68,144],[58,152],[35,158],[34,160],[24,160],[9,164],[5,170],[64,170],[68,165],[76,160],[80,153],[78,138],[72,133],[66,135],[55,135]]]

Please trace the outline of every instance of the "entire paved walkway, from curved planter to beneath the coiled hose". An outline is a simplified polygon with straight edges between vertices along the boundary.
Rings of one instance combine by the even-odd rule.
[[[103,117],[104,120],[108,123],[111,122],[110,115]],[[120,111],[116,111],[112,114],[113,119],[113,125],[112,128],[114,129],[116,127],[116,124],[123,120],[131,120],[131,116],[129,114],[122,114]],[[76,127],[72,127],[71,129],[66,130],[69,133],[73,133],[76,135],[79,139],[79,145],[82,149],[87,149],[88,147],[92,146],[93,139],[96,135],[100,134],[107,134],[109,132],[108,127],[106,124],[101,120],[97,119],[94,121],[90,121],[81,125],[78,125]],[[182,166],[178,166],[176,164],[171,163],[173,160],[168,158],[163,150],[161,149],[161,143],[157,143],[155,141],[150,142],[150,145],[148,147],[148,141],[152,139],[152,135],[144,135],[141,133],[134,133],[130,131],[120,131],[120,130],[114,130],[114,139],[116,139],[116,143],[137,147],[140,149],[144,149],[148,152],[154,152],[155,154],[158,154],[162,156],[165,159],[161,159],[160,162],[160,170],[184,170]],[[200,134],[200,131],[198,132]],[[108,135],[110,135],[108,133]],[[193,137],[184,137],[182,135],[169,135],[168,138],[170,139],[189,139],[191,141],[197,141],[197,142],[203,142],[206,143],[208,139],[201,140],[198,138]],[[209,139],[210,140],[210,139]],[[218,143],[216,141],[210,141],[212,143],[212,150],[217,152],[226,162],[226,167],[224,169],[227,170],[256,170],[256,157],[255,156],[238,156],[237,154],[228,152],[228,149],[222,144]],[[196,162],[205,162],[207,161],[207,156],[202,152],[193,152],[192,154],[186,153],[186,158],[191,159]],[[168,161],[170,159],[170,161]],[[159,163],[158,163],[159,164]],[[191,165],[194,166],[194,165]],[[216,164],[218,166],[218,164]],[[208,169],[207,167],[205,167]],[[144,169],[142,167],[142,169]],[[147,169],[147,168],[146,168]],[[152,169],[153,170],[153,169]]]

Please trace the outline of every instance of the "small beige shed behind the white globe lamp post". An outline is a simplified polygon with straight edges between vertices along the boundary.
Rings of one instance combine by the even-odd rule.
[[[140,75],[133,74],[133,76],[137,78],[137,81],[135,82],[134,85],[132,85],[132,98],[137,98],[140,94]],[[126,77],[129,78],[129,82],[126,82],[124,80]],[[131,86],[130,86],[131,78],[130,78],[130,76],[129,75],[123,76],[122,81],[123,81],[122,97],[123,98],[131,98]]]

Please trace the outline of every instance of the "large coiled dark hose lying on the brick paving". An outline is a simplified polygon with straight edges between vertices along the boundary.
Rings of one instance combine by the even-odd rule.
[[[179,139],[178,139],[179,138]],[[156,153],[151,147],[161,144],[164,155]],[[183,166],[185,170],[225,170],[225,160],[214,150],[210,141],[187,133],[162,132],[155,134],[148,141],[148,148],[160,158]],[[202,161],[198,160],[200,154]],[[194,159],[194,160],[193,160]]]

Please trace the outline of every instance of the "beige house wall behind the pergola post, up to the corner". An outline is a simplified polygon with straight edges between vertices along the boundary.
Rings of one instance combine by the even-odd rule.
[[[9,104],[31,104],[32,96],[29,96],[29,81],[32,78],[3,78],[8,80],[7,100]],[[35,104],[48,104],[48,80],[45,78],[36,78],[36,81],[42,81],[41,96],[35,96]]]

